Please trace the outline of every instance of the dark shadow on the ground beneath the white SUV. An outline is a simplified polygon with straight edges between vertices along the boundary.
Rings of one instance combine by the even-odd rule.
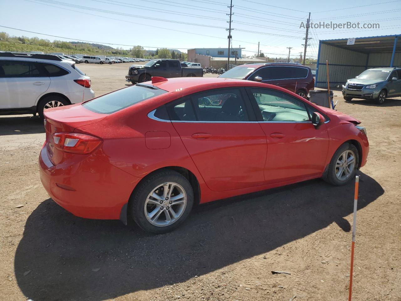
[[[43,119],[38,116],[4,116],[0,118],[0,136],[44,132]]]

